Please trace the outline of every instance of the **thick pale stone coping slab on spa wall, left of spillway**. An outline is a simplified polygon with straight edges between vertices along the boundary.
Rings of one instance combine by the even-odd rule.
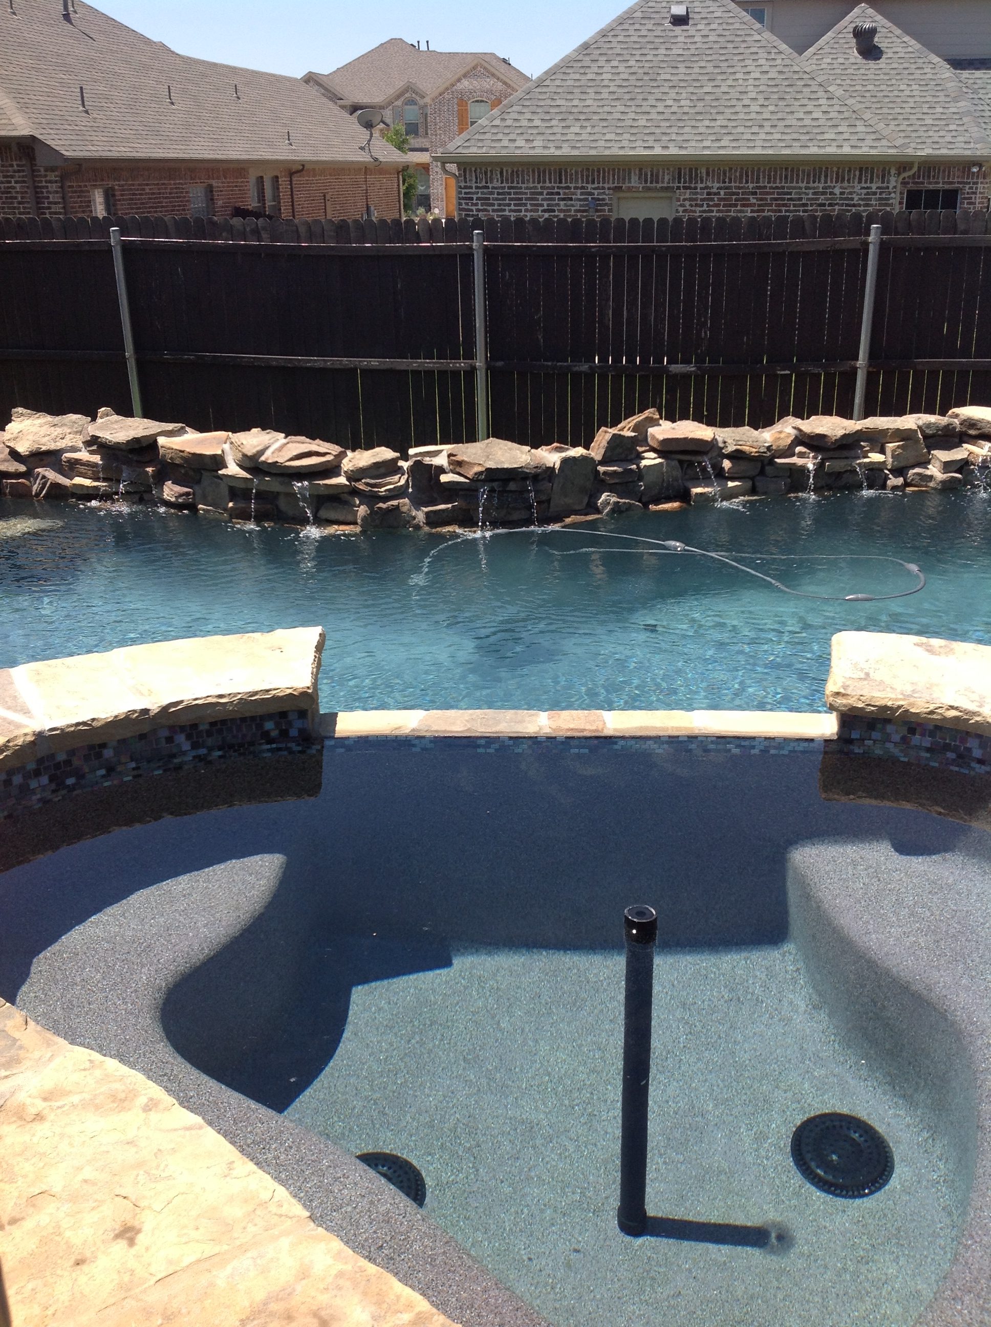
[[[0,670],[0,770],[165,725],[317,714],[324,629],[203,636]]]

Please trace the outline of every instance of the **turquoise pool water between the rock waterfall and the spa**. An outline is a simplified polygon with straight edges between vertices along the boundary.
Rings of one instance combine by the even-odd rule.
[[[797,598],[592,531],[746,555],[820,593],[910,588],[868,555],[917,563],[927,584]],[[324,709],[823,709],[834,632],[991,644],[988,602],[988,492],[738,502],[483,540],[0,502],[0,666],[318,622]]]

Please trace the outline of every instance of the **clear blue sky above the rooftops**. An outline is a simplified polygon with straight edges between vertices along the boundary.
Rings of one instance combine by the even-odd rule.
[[[436,50],[495,50],[539,74],[629,0],[93,0],[184,56],[300,74],[326,73],[387,37],[430,41]]]

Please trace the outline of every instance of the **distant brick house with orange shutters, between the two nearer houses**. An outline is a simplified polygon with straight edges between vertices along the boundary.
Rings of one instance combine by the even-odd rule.
[[[529,80],[491,52],[421,50],[391,37],[329,74],[308,73],[304,82],[354,114],[375,107],[389,125],[410,137],[407,165],[417,171],[417,207],[455,215],[455,180],[431,153],[500,106]]]

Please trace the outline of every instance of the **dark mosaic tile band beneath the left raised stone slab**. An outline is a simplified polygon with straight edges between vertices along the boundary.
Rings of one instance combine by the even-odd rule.
[[[318,744],[305,710],[174,725],[115,742],[93,742],[0,774],[0,820],[88,788],[236,755],[312,751]]]

